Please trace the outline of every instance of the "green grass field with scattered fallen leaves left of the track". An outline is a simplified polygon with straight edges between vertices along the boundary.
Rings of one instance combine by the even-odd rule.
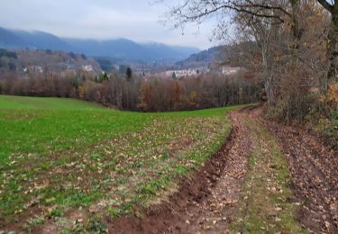
[[[231,130],[224,113],[234,108],[119,112],[0,95],[0,230],[50,221],[59,230],[100,229],[106,217],[138,215],[221,147]]]

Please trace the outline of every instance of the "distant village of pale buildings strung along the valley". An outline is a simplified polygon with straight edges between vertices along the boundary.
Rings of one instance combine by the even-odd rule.
[[[36,65],[29,65],[22,68],[24,74],[41,74],[45,71],[50,72],[60,72],[60,74],[76,74],[78,72],[92,73],[95,76],[101,73],[120,73],[125,74],[127,65],[115,64],[109,60],[103,59],[87,59],[85,56],[71,54],[71,53],[62,53],[54,52],[52,54],[45,51],[29,51],[25,50],[21,52],[28,54],[28,56],[36,57],[38,63]],[[24,58],[24,56],[21,57]],[[28,56],[26,56],[28,58]],[[59,62],[54,59],[58,56],[63,60]],[[41,57],[41,58],[39,58]],[[48,62],[46,62],[48,61]],[[106,66],[106,67],[105,67]],[[20,67],[20,66],[17,66]],[[131,64],[132,75],[135,77],[159,77],[159,78],[183,78],[189,76],[203,76],[207,73],[212,72],[213,74],[219,74],[224,76],[233,76],[243,70],[242,67],[232,67],[232,66],[223,66],[223,67],[210,67],[210,66],[200,66],[200,67],[185,67],[178,68],[171,66],[169,67],[166,64]],[[107,69],[105,69],[107,68]]]

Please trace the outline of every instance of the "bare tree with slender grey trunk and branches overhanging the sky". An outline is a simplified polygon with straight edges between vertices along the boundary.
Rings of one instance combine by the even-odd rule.
[[[292,45],[289,52],[297,50],[297,41],[302,36],[299,27],[298,0],[182,0],[170,8],[166,17],[174,28],[184,29],[187,23],[202,23],[210,17],[216,17],[218,31],[224,31],[226,21],[242,25],[243,31],[251,35],[261,50],[261,79],[270,103],[275,103],[273,89],[273,58],[270,53],[271,40],[276,39],[279,24],[288,22],[291,25]],[[231,21],[232,20],[232,21]],[[223,32],[222,32],[223,33]],[[295,58],[295,57],[294,57]],[[294,59],[295,60],[295,59]]]

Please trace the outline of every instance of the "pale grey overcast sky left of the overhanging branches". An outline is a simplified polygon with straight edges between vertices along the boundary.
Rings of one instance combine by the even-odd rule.
[[[1,0],[0,27],[47,31],[66,38],[127,38],[200,49],[215,45],[210,42],[213,23],[204,23],[199,30],[196,25],[189,25],[182,35],[181,31],[160,23],[160,16],[168,6],[151,4],[151,1]],[[196,31],[199,31],[197,35]]]

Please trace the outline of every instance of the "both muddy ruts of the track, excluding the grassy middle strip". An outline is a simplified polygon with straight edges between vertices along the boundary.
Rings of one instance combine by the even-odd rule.
[[[224,146],[191,178],[182,178],[177,193],[155,205],[142,218],[109,224],[110,233],[227,233],[253,147],[245,119],[270,130],[288,162],[289,184],[296,197],[297,219],[315,233],[338,233],[338,155],[303,130],[260,118],[260,109],[245,108],[230,115],[233,130]]]

